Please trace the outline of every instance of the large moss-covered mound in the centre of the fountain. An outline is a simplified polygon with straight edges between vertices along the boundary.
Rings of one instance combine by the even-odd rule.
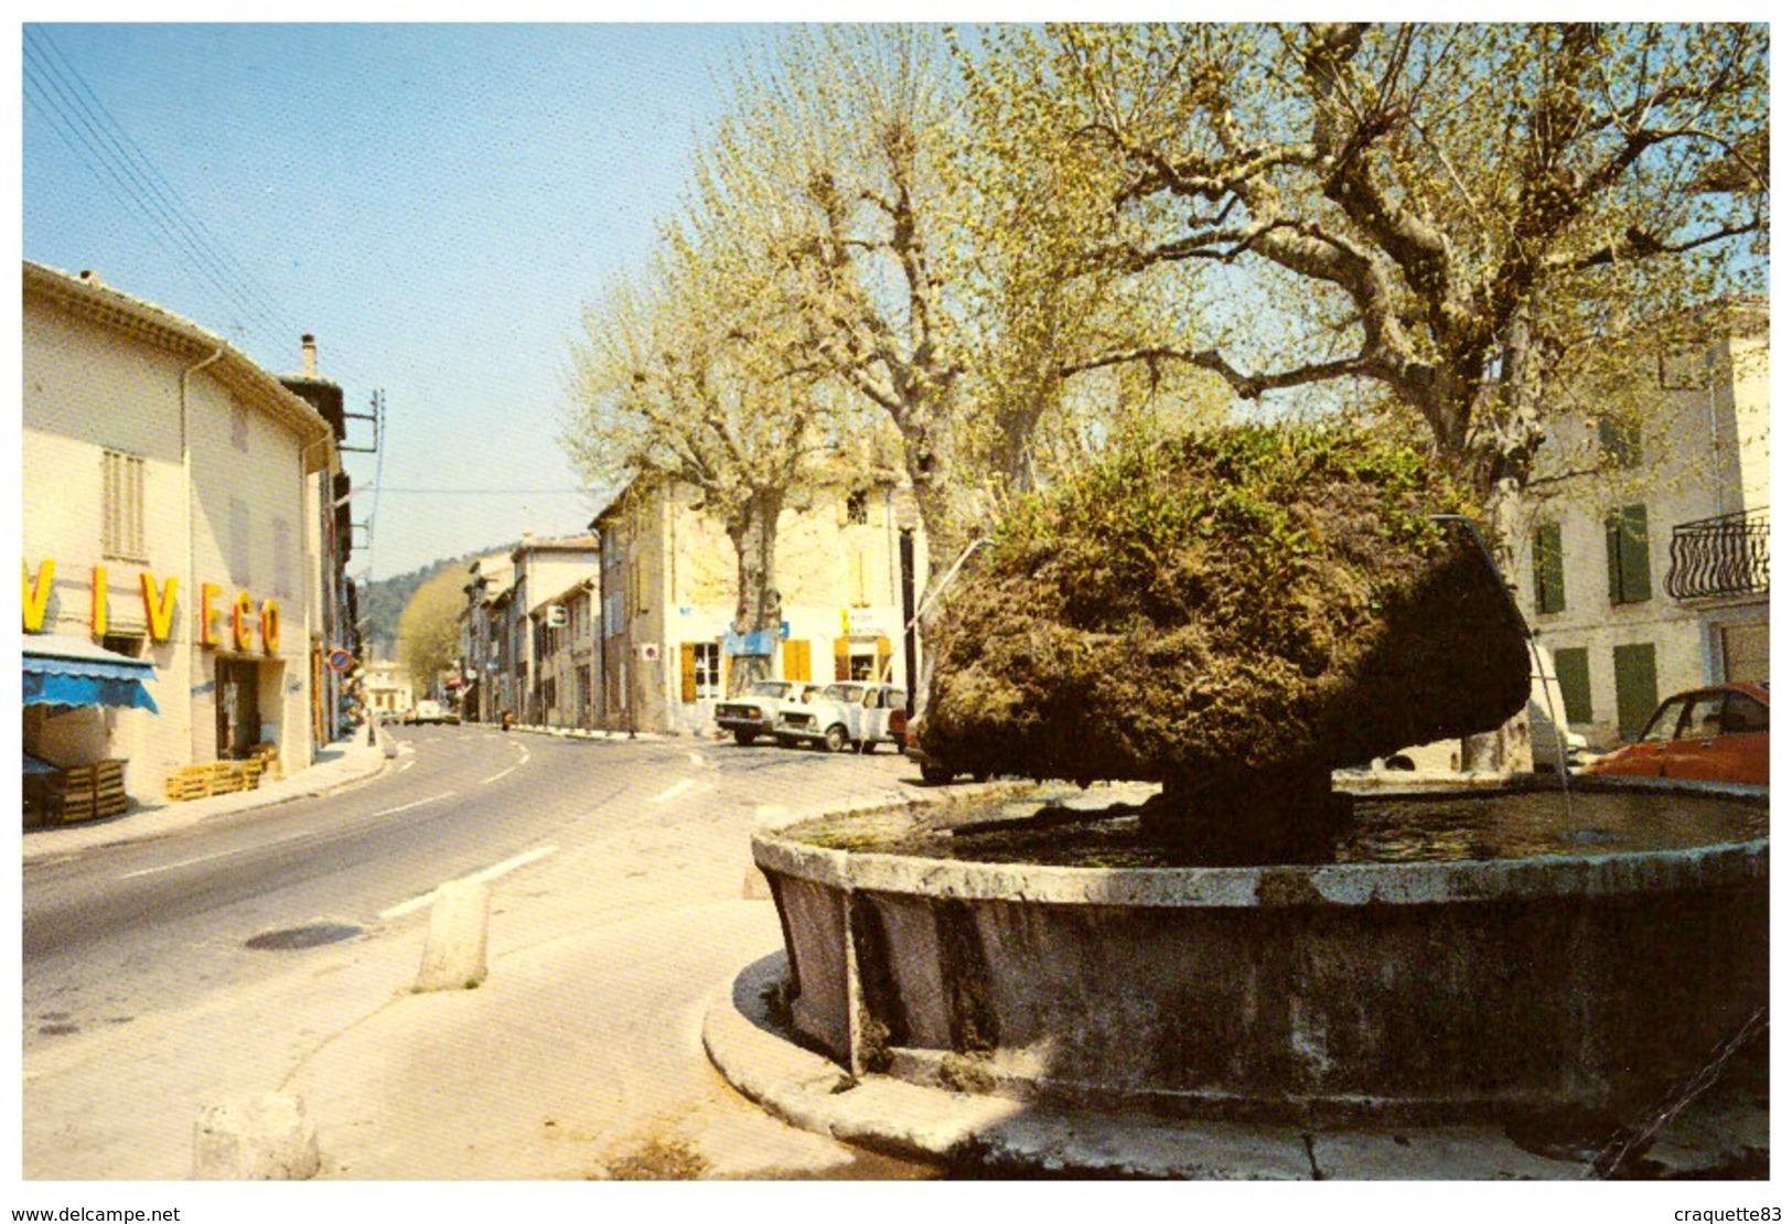
[[[1165,781],[1219,819],[1493,729],[1530,668],[1480,545],[1434,520],[1466,511],[1362,434],[1129,448],[1020,504],[957,579],[921,746],[961,772]]]

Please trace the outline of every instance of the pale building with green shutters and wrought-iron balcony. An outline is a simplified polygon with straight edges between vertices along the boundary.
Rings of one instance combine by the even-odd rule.
[[[1767,314],[1724,303],[1708,344],[1638,362],[1652,385],[1629,423],[1595,410],[1539,453],[1539,473],[1602,459],[1534,484],[1518,557],[1521,606],[1593,747],[1633,738],[1670,694],[1769,677]]]

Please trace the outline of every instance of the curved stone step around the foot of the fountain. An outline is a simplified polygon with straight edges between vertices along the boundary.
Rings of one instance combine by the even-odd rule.
[[[1296,1125],[1167,1122],[1075,1113],[885,1075],[853,1079],[781,1036],[763,993],[785,955],[747,966],[711,1002],[710,1061],[737,1091],[783,1122],[955,1172],[998,1177],[1193,1181],[1588,1181],[1584,1161],[1521,1149],[1496,1125],[1317,1131]],[[1738,1113],[1740,1111],[1740,1113]],[[1654,1176],[1722,1172],[1767,1149],[1765,1108],[1695,1102]]]

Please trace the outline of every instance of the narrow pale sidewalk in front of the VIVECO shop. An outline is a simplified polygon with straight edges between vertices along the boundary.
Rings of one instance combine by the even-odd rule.
[[[283,778],[263,778],[262,785],[254,790],[238,790],[235,794],[211,796],[210,799],[188,799],[185,803],[133,799],[127,812],[104,821],[29,828],[23,837],[23,860],[32,864],[97,846],[149,840],[192,828],[215,815],[324,796],[376,776],[385,769],[385,762],[394,753],[392,737],[383,728],[380,729],[378,746],[369,746],[367,733],[362,729],[353,738],[337,740],[319,751],[317,760],[305,769],[290,771]]]

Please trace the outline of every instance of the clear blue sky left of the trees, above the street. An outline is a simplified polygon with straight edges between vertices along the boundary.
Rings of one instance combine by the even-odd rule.
[[[731,54],[772,34],[27,25],[23,258],[95,269],[274,373],[315,333],[351,410],[382,391],[378,482],[349,457],[378,484],[351,573],[582,530],[597,505],[556,443],[581,306],[642,265]]]

